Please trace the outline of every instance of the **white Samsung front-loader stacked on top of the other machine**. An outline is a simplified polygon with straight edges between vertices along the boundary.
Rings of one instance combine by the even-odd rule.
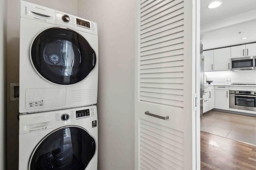
[[[97,24],[21,1],[20,113],[97,103]]]

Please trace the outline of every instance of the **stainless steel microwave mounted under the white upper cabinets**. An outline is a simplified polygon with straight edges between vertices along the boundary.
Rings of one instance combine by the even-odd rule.
[[[232,58],[231,70],[252,70],[255,69],[256,56]]]

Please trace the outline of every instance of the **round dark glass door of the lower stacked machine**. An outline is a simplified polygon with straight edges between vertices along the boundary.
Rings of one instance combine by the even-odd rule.
[[[95,140],[80,127],[63,127],[34,150],[29,170],[84,170],[96,151]]]

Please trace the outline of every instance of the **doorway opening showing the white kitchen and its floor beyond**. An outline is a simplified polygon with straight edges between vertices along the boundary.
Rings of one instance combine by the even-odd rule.
[[[256,1],[218,2],[200,2],[201,169],[256,168]]]

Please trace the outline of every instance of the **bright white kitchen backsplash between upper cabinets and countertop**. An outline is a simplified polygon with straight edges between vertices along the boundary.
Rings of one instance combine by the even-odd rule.
[[[226,78],[230,78],[231,83],[256,83],[256,70],[210,71],[204,72],[204,75],[213,83],[224,83]]]

